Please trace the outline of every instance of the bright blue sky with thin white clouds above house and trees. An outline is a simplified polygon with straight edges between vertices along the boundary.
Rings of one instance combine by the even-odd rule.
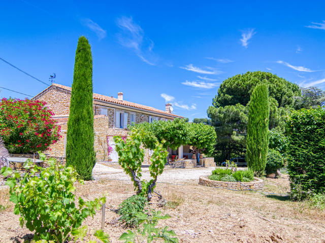
[[[324,1],[2,1],[0,58],[71,86],[78,37],[93,56],[93,91],[206,117],[218,86],[270,71],[325,88]],[[261,3],[262,2],[262,3]],[[0,86],[36,95],[47,86],[0,60]],[[24,98],[2,89],[1,97]]]

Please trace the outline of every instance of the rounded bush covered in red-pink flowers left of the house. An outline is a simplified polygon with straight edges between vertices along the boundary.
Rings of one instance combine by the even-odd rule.
[[[45,151],[60,138],[54,113],[38,100],[2,99],[0,136],[11,153]]]

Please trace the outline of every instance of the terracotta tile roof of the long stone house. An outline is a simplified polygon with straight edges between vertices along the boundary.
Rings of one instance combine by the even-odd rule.
[[[71,91],[71,87],[68,87],[68,86],[59,85],[59,84],[52,84],[52,86],[56,86],[56,87],[64,89],[64,90]],[[173,113],[166,112],[164,110],[159,110],[159,109],[156,109],[156,108],[153,108],[153,107],[150,107],[150,106],[140,105],[140,104],[137,104],[137,103],[126,101],[126,100],[118,100],[116,98],[112,98],[112,97],[106,96],[106,95],[100,95],[100,94],[93,93],[93,99],[106,101],[106,102],[110,102],[110,103],[118,104],[118,105],[134,107],[134,108],[147,110],[147,111],[152,111],[152,112],[156,112],[156,113],[160,113],[160,114],[164,114],[164,115],[169,115],[169,116],[174,116],[174,117],[181,117],[181,118],[183,117],[183,116],[180,116],[180,115],[176,115],[176,114],[173,114]]]

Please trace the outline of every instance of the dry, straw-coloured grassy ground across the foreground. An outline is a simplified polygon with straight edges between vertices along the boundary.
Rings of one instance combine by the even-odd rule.
[[[197,183],[159,183],[156,190],[168,203],[158,209],[156,199],[152,200],[152,208],[172,216],[159,224],[174,229],[180,242],[325,242],[325,212],[310,208],[305,202]],[[286,175],[280,179],[266,179],[265,184],[266,191],[286,193],[289,190]],[[118,216],[114,210],[122,200],[134,194],[133,189],[131,183],[101,180],[78,185],[77,196],[93,199],[105,195],[106,222],[110,222]],[[23,236],[29,231],[19,227],[19,216],[12,213],[12,204],[5,190],[0,190],[0,205],[8,205],[0,211],[0,242],[23,242]],[[99,229],[101,212],[93,219],[87,219],[85,224],[91,229]],[[120,242],[118,237],[125,231],[110,224],[104,230],[111,235],[113,243]]]

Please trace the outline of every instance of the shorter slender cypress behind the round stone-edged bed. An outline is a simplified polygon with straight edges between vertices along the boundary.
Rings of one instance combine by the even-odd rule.
[[[263,175],[269,149],[269,90],[258,84],[252,92],[248,110],[246,161],[248,168]]]

